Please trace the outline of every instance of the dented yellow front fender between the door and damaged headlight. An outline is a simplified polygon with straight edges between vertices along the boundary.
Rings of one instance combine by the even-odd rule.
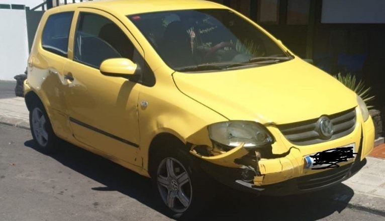
[[[157,135],[168,133],[183,143],[209,145],[208,136],[197,135],[207,135],[207,126],[212,123],[227,121],[210,108],[180,93],[175,86],[172,86],[174,85],[172,76],[161,74],[167,69],[159,68],[154,71],[157,77],[156,84],[153,87],[142,86],[139,94],[139,101],[148,102],[147,107],[139,108],[140,156],[146,170],[149,162],[148,151]]]

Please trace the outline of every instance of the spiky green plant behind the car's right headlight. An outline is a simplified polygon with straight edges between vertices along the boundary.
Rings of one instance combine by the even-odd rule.
[[[371,87],[366,86],[364,81],[357,81],[357,78],[350,73],[345,75],[338,73],[337,75],[334,75],[334,77],[337,78],[337,80],[343,83],[346,87],[356,92],[357,95],[360,96],[363,101],[365,101],[368,108],[373,107],[368,105],[368,103],[374,99],[374,96],[370,94]]]

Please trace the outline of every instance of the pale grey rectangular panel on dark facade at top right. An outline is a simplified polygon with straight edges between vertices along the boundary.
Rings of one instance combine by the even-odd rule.
[[[322,23],[385,23],[384,0],[323,0]]]

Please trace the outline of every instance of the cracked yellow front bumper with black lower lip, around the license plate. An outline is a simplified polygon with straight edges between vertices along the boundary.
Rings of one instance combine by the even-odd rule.
[[[242,147],[234,148],[226,154],[215,157],[201,156],[197,160],[204,171],[228,186],[258,194],[287,195],[326,188],[348,179],[365,164],[364,158],[371,152],[374,142],[372,119],[369,117],[366,122],[363,122],[360,113],[357,116],[355,130],[350,135],[317,145],[292,146],[279,135],[277,130],[269,130],[277,138],[277,142],[275,142],[277,146],[273,148],[282,150],[286,147],[287,151],[283,155],[276,154],[278,156],[276,158],[257,161],[259,174],[254,176],[253,180],[247,182],[242,179],[244,168],[240,167],[236,161],[245,154]],[[305,156],[351,143],[354,143],[356,147],[357,155],[354,161],[351,159],[348,162],[339,163],[340,167],[325,170],[305,169]]]

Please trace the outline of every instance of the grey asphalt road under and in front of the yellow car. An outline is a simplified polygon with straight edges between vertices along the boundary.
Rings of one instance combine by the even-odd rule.
[[[65,142],[44,155],[31,139],[0,125],[0,220],[171,219],[149,179]],[[287,197],[220,189],[199,220],[384,220],[349,208],[354,192],[343,184]]]

